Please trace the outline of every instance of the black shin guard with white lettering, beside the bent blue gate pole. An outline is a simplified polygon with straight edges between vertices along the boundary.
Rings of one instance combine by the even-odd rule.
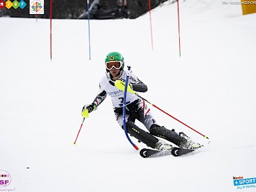
[[[140,129],[137,125],[133,124],[132,122],[126,123],[127,132],[134,136],[134,138],[140,140],[142,143],[145,143],[148,147],[155,148],[156,143],[159,141],[157,138],[152,136],[146,131]]]

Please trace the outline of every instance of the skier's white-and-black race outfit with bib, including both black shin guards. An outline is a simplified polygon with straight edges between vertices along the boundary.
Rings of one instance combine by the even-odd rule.
[[[125,81],[126,72],[121,71],[120,80]],[[132,84],[132,89],[138,92],[147,92],[147,86],[143,84],[136,75],[130,72],[129,83]],[[116,116],[116,121],[120,125],[120,127],[124,128],[124,120],[123,120],[123,101],[124,101],[124,92],[116,88],[115,81],[111,79],[111,75],[107,74],[107,76],[102,77],[100,81],[100,90],[93,101],[96,106],[99,106],[100,103],[106,99],[106,96],[109,95],[112,100],[114,113]],[[156,137],[158,136],[164,138],[175,145],[182,147],[187,141],[179,136],[174,130],[170,131],[165,127],[161,127],[157,125],[156,120],[154,120],[152,113],[150,112],[150,108],[148,108],[147,104],[144,100],[140,99],[137,95],[133,93],[127,92],[126,95],[126,111],[125,111],[125,122],[127,125],[127,132],[134,136],[138,140],[142,141],[149,147],[155,148],[156,143],[159,141]],[[134,124],[135,120],[139,120],[145,127],[148,132],[143,131],[138,126]],[[154,135],[154,136],[153,136]]]

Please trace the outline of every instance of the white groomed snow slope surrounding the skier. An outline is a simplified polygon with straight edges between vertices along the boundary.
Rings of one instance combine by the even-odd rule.
[[[177,4],[167,1],[152,10],[154,50],[148,14],[91,20],[89,60],[88,22],[53,20],[50,61],[49,20],[0,18],[0,170],[12,176],[0,191],[237,191],[233,177],[256,176],[255,21],[240,5],[182,1],[179,57]],[[107,98],[72,145],[111,51],[148,85],[142,97],[211,143],[151,107],[159,124],[206,147],[143,159]]]

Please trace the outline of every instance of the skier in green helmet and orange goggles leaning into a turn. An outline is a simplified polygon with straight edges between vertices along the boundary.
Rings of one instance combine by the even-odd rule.
[[[126,78],[126,72],[124,71],[124,58],[122,54],[119,52],[110,52],[106,56],[105,67],[106,76],[102,77],[100,81],[99,94],[93,100],[92,104],[87,104],[83,107],[82,113],[85,109],[88,109],[89,113],[95,111],[100,103],[106,99],[106,96],[109,95],[113,103],[116,121],[120,127],[124,129],[122,108],[124,92],[118,90],[115,86],[116,80],[125,81]],[[129,86],[135,92],[147,92],[147,85],[142,83],[142,81],[140,81],[140,79],[138,79],[138,77],[133,73],[130,73],[129,76]],[[134,124],[136,119],[145,125],[148,132],[143,131]],[[191,139],[183,132],[177,134],[174,129],[170,131],[169,129],[157,124],[145,101],[128,92],[126,97],[125,122],[127,132],[131,134],[131,136],[134,136],[134,138],[145,143],[148,147],[156,148],[157,150],[172,150],[173,148],[172,145],[163,140],[159,140],[158,138],[168,140],[182,148],[196,149],[202,147],[202,145],[191,141]],[[156,136],[158,138],[156,138]]]

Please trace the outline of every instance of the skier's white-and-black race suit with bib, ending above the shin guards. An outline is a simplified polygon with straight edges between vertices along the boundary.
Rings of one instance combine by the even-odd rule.
[[[119,78],[122,81],[125,81],[126,79],[126,72],[122,72],[122,75]],[[139,90],[146,92],[147,86],[143,84],[137,76],[130,73],[129,76],[129,83],[131,83],[134,86],[134,89],[137,85],[139,85]],[[142,87],[142,88],[141,88]],[[137,86],[138,88],[138,86]],[[109,95],[112,100],[113,109],[116,116],[116,121],[122,127],[124,125],[123,121],[123,101],[124,101],[124,92],[116,88],[115,81],[111,80],[111,77],[108,73],[107,76],[102,77],[100,81],[100,90],[99,94],[93,101],[96,106],[99,106],[99,104],[106,99],[106,96]],[[126,95],[126,116],[125,120],[127,122],[128,118],[132,119],[134,122],[134,117],[130,116],[136,116],[136,118],[145,125],[145,127],[150,131],[150,127],[152,124],[156,124],[156,121],[154,120],[152,114],[150,113],[150,108],[148,108],[147,104],[144,100],[140,99],[138,96],[127,92]]]

